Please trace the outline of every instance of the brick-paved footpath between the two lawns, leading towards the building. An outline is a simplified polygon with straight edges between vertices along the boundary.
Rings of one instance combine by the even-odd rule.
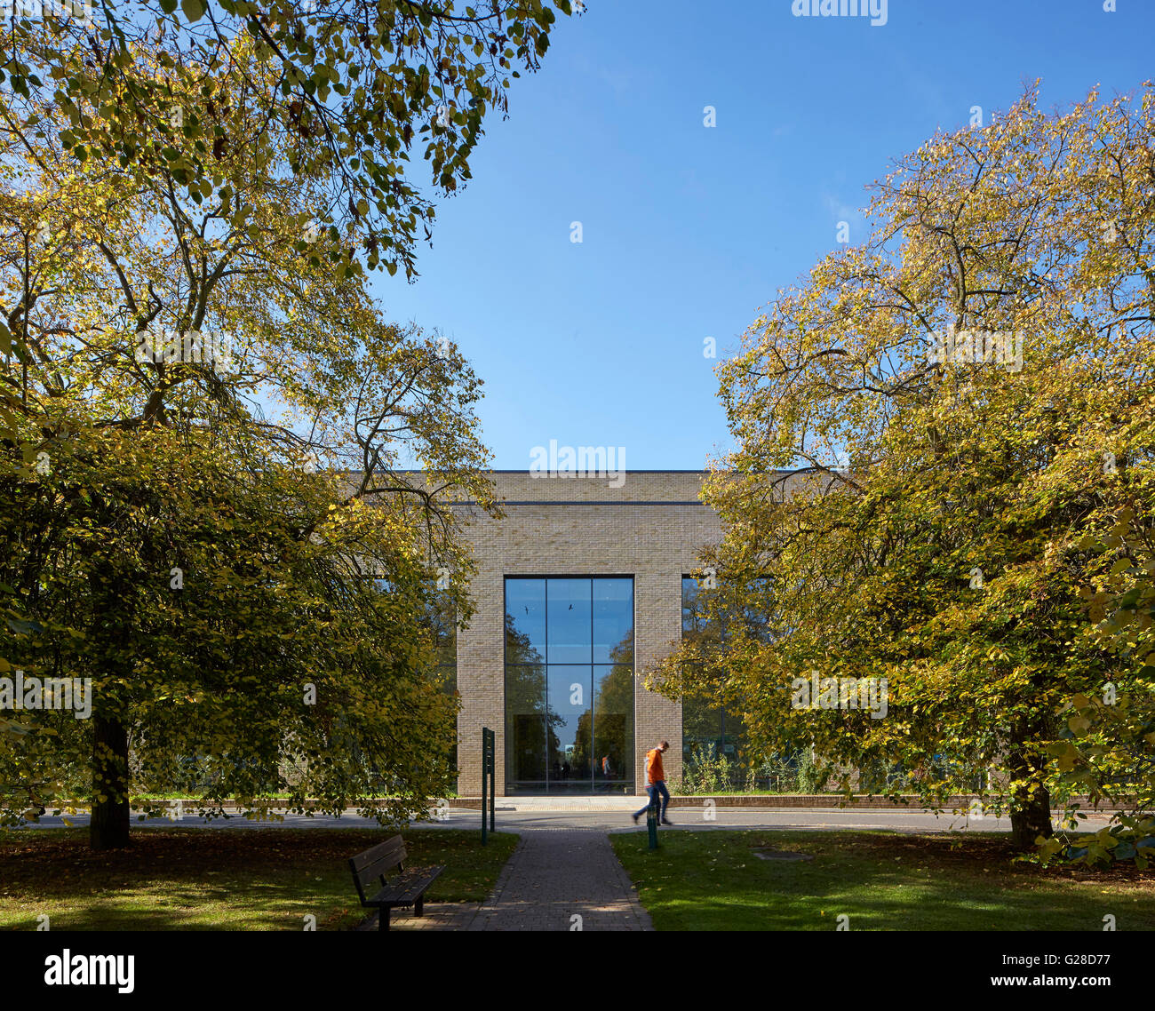
[[[482,904],[395,910],[394,930],[653,930],[605,830],[529,831]],[[377,929],[375,915],[362,929]]]

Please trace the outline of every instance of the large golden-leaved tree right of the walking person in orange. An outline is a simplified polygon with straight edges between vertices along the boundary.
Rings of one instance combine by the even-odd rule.
[[[877,184],[871,238],[720,366],[737,448],[705,490],[725,533],[703,560],[718,609],[773,623],[732,617],[705,659],[763,751],[813,742],[848,791],[901,761],[932,804],[990,772],[1028,846],[1052,831],[1059,711],[1147,690],[1080,590],[1113,560],[1087,535],[1125,501],[1150,525],[1152,444],[1120,433],[1153,393],[1153,113],[1150,87],[1055,116],[1028,92],[936,135]],[[687,642],[651,681],[678,693],[700,659]],[[886,716],[841,682],[807,707],[812,674],[875,679]]]

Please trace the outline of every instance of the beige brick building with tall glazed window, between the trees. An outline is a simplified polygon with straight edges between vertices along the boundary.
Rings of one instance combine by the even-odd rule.
[[[478,573],[456,642],[460,793],[480,788],[482,727],[498,734],[499,794],[644,793],[662,738],[679,775],[681,705],[635,675],[681,635],[684,577],[721,537],[705,476],[493,473],[505,518],[467,527]]]

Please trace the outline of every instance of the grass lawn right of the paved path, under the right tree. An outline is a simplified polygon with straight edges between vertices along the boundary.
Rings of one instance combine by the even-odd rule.
[[[1155,871],[1012,862],[1005,837],[889,832],[612,834],[658,930],[1155,930]],[[757,849],[811,861],[763,860]]]

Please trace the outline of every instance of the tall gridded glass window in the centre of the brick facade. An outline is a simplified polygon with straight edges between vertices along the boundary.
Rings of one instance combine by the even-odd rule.
[[[506,793],[634,791],[634,581],[505,581]]]

